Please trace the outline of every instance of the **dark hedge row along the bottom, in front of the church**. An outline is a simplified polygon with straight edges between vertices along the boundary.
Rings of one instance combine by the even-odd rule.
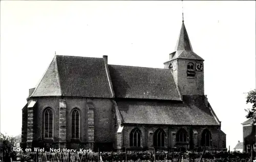
[[[167,151],[157,151],[155,153],[155,159],[157,161],[166,160],[169,161],[177,161],[177,159],[180,156],[180,152],[167,152]],[[185,161],[189,161],[189,159],[199,159],[202,156],[202,152],[184,152],[182,153],[183,159]],[[50,152],[44,152],[44,153],[36,153],[36,152],[22,152],[17,154],[17,157],[21,161],[29,161],[30,159],[33,159],[36,161],[36,159],[73,159],[75,161],[98,161],[98,153],[50,153]],[[103,161],[124,161],[125,160],[125,152],[101,152],[101,157]],[[232,159],[232,161],[245,161],[245,159],[248,159],[250,155],[248,153],[240,153],[240,152],[223,152],[223,151],[206,151],[205,155],[203,156],[206,159],[214,160],[214,161],[226,161],[228,158]],[[152,151],[139,151],[139,152],[133,152],[133,151],[127,151],[126,152],[126,160],[127,161],[152,161],[153,160],[153,152]],[[191,160],[192,161],[192,160]]]

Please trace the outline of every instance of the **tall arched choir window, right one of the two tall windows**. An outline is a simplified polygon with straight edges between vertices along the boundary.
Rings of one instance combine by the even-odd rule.
[[[80,114],[78,109],[71,112],[71,138],[80,137]]]

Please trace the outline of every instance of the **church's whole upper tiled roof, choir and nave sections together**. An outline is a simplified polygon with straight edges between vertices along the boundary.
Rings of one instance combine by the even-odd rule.
[[[117,98],[182,101],[169,69],[108,67],[110,78],[102,58],[56,55],[30,97],[113,98],[113,84]]]

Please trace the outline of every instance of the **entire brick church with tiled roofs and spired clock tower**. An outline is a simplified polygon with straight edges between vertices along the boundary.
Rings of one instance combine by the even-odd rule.
[[[56,55],[22,112],[23,148],[226,149],[184,21],[163,68]]]

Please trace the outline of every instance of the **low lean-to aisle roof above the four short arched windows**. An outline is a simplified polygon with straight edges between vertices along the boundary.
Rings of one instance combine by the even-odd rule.
[[[123,119],[129,124],[220,125],[202,97],[180,101],[116,101]]]

